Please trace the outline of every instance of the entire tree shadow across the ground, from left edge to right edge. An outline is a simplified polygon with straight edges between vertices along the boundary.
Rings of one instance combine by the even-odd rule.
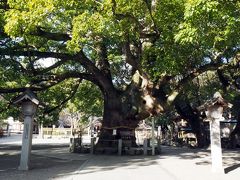
[[[158,156],[113,156],[113,155],[83,155],[71,154],[66,145],[33,146],[31,156],[31,170],[18,171],[20,160],[19,146],[4,146],[0,144],[0,179],[34,179],[47,180],[69,177],[76,174],[92,174],[107,172],[114,169],[138,169],[159,165],[161,160],[167,161],[193,160],[197,166],[210,165],[210,151],[208,149],[189,149],[163,146]],[[239,149],[223,151],[225,173],[239,169]],[[106,178],[107,179],[107,178]]]

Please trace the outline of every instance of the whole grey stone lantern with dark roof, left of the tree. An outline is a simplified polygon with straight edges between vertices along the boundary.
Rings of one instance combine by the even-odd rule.
[[[24,117],[24,130],[22,135],[22,149],[19,170],[29,169],[29,160],[32,147],[33,117],[36,113],[39,100],[29,89],[13,99],[13,103],[21,106]]]

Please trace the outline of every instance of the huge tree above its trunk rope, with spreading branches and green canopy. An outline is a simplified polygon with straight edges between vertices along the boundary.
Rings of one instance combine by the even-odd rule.
[[[206,71],[235,80],[239,9],[234,0],[3,0],[0,93],[28,87],[63,104],[89,81],[110,137],[166,111]]]

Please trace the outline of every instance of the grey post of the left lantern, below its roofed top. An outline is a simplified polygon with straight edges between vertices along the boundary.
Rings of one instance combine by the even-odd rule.
[[[24,130],[22,136],[22,151],[19,170],[28,170],[29,161],[32,147],[32,129],[33,129],[33,119],[32,116],[24,117]]]

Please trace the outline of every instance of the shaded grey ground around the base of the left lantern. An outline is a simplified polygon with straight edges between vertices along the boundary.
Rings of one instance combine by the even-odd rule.
[[[37,145],[33,146],[30,159],[30,170],[19,171],[20,150],[19,146],[0,144],[0,179],[6,180],[47,180],[72,173],[86,160],[68,159],[60,154],[59,157],[51,157],[49,154],[55,151],[67,151],[66,145]],[[44,152],[44,155],[38,155]],[[40,153],[41,154],[41,153]],[[66,153],[65,153],[66,154]]]

